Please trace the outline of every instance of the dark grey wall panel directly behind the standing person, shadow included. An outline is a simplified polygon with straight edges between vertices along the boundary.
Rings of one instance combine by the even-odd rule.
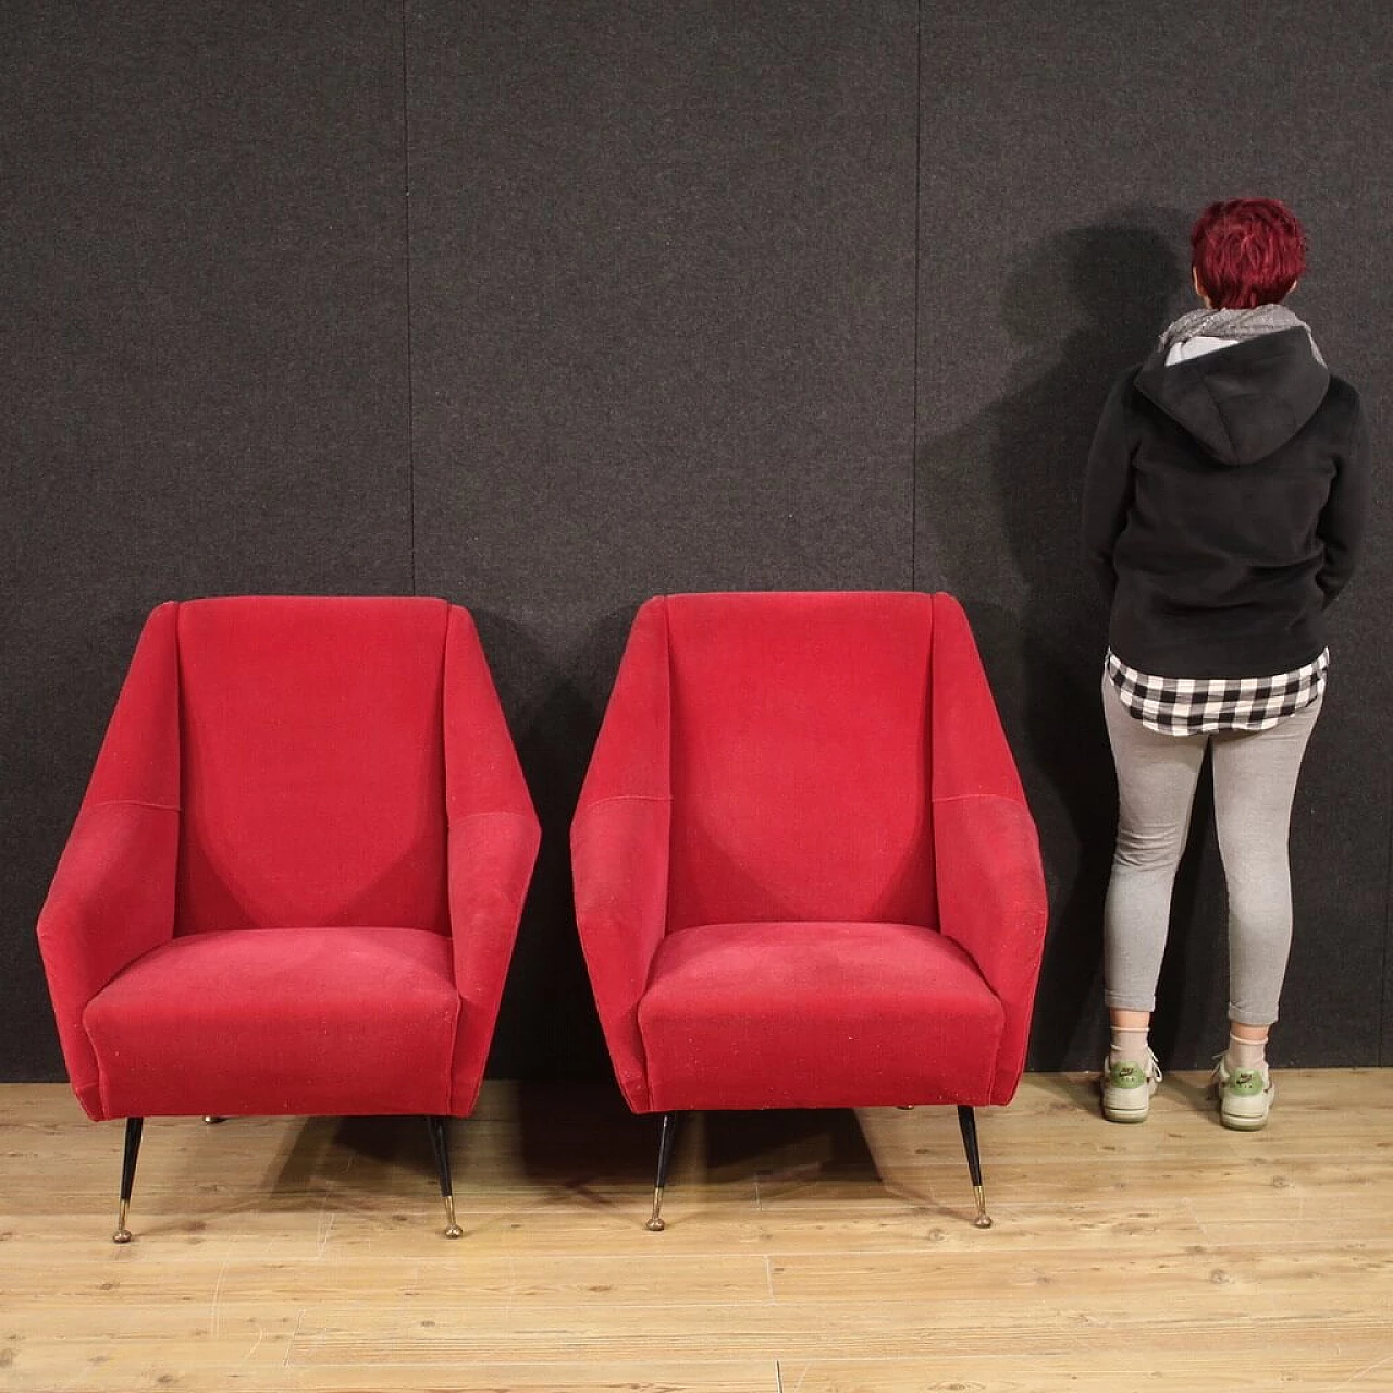
[[[1199,13],[1011,0],[989,17],[965,0],[924,6],[915,584],[967,603],[1041,823],[1053,919],[1035,1067],[1096,1067],[1105,1039],[1105,613],[1077,547],[1098,410],[1114,375],[1190,308],[1194,215],[1269,192],[1311,237],[1293,306],[1364,390],[1376,429],[1389,419],[1389,287],[1375,267],[1390,212],[1390,42],[1393,15],[1355,3]],[[1282,1063],[1375,1063],[1380,1032],[1390,1042],[1387,538],[1380,514],[1333,614],[1332,690],[1293,822]],[[1198,819],[1177,887],[1158,1009],[1177,1066],[1206,1064],[1224,1038],[1211,823]]]

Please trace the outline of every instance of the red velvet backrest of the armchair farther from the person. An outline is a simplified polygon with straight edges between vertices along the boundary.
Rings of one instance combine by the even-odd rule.
[[[178,606],[176,932],[449,932],[435,599]]]

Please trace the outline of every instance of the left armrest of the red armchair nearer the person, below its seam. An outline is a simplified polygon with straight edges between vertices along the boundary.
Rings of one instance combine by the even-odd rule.
[[[621,794],[584,804],[571,826],[575,925],[624,1100],[649,1110],[638,1003],[667,931],[671,800]]]

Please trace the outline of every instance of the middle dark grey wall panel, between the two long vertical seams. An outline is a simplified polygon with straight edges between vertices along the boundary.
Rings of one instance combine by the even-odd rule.
[[[545,822],[493,1068],[607,1071],[566,837],[635,605],[911,584],[915,7],[408,17],[417,579]]]

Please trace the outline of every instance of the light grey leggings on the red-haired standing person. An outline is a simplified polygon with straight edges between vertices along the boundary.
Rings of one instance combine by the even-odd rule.
[[[1152,1011],[1170,894],[1190,833],[1205,748],[1213,748],[1215,823],[1229,885],[1229,1020],[1270,1025],[1291,947],[1287,832],[1316,701],[1270,730],[1163,736],[1128,715],[1103,677],[1117,766],[1117,848],[1103,907],[1103,1000]]]

